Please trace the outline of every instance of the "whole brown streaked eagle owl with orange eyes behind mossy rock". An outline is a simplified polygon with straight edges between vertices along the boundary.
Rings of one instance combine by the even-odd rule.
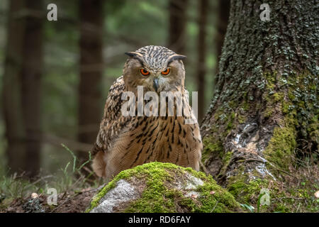
[[[94,172],[109,181],[122,170],[155,161],[172,162],[199,170],[203,145],[184,88],[185,70],[181,60],[185,56],[153,45],[125,54],[128,60],[123,75],[109,90],[99,134],[92,150]],[[160,113],[157,116],[141,116],[136,114],[137,111],[133,111],[135,116],[123,115],[123,93],[131,92],[138,96],[139,86],[144,94],[179,94],[182,103],[174,99],[175,109],[170,116],[168,110],[164,116]],[[142,100],[145,104],[145,100]],[[184,105],[190,116],[178,115],[177,104]],[[168,105],[164,108],[168,108]],[[186,123],[187,118],[195,121]]]

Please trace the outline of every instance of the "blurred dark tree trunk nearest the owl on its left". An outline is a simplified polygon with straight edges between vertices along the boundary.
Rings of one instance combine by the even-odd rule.
[[[103,0],[80,0],[79,16],[79,141],[93,144],[101,121]],[[89,156],[87,153],[79,152],[78,157],[83,162]]]

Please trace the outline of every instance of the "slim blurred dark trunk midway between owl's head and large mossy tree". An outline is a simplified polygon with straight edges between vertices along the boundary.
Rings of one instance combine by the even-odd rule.
[[[208,0],[199,1],[198,7],[198,62],[197,62],[197,90],[198,90],[198,122],[201,122],[205,106],[205,76],[206,76],[206,26]]]

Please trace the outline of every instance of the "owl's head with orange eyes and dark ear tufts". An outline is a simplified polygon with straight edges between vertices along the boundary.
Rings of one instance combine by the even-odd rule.
[[[184,92],[185,69],[181,61],[186,56],[177,55],[167,48],[147,45],[129,56],[123,69],[125,87],[136,92],[138,86],[146,91]]]

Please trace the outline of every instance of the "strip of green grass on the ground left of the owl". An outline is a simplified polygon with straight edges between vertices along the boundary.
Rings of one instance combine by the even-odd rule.
[[[86,162],[80,163],[77,156],[66,145],[61,144],[65,150],[72,156],[72,161],[67,162],[65,167],[61,167],[55,175],[40,176],[34,181],[26,179],[23,174],[3,175],[0,178],[0,211],[13,204],[13,201],[25,201],[31,194],[38,196],[48,196],[48,189],[56,189],[62,198],[67,194],[77,194],[83,192],[83,189],[95,188],[101,182],[92,179],[94,172],[86,167],[91,162],[91,153]],[[86,174],[84,174],[86,171]],[[52,209],[54,209],[52,207]]]

